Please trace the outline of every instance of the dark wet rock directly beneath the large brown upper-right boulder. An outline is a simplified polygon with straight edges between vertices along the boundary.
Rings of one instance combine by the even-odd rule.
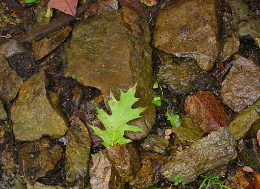
[[[168,87],[171,94],[185,95],[214,85],[214,81],[202,71],[194,61],[172,63],[165,62],[157,74]]]

